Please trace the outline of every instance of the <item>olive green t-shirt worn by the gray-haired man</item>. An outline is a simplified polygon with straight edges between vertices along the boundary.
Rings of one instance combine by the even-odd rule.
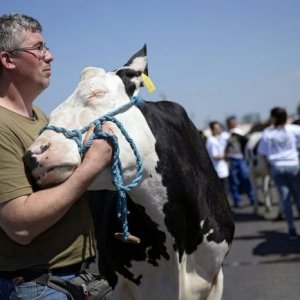
[[[46,123],[36,106],[32,118],[0,106],[0,203],[33,192],[22,157]],[[92,218],[83,197],[28,245],[14,242],[0,228],[0,271],[64,267],[94,255]]]

